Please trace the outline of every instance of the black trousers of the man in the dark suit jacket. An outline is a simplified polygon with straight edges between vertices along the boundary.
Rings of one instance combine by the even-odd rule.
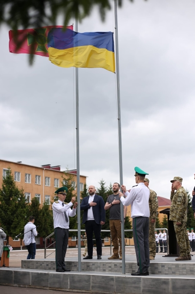
[[[102,225],[96,223],[95,221],[86,221],[88,256],[93,256],[93,232],[96,240],[97,255],[102,255],[101,228]]]

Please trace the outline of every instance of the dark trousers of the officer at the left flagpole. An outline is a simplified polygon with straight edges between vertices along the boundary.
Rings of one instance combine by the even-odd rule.
[[[69,229],[55,228],[56,270],[65,269],[65,253],[68,245]]]

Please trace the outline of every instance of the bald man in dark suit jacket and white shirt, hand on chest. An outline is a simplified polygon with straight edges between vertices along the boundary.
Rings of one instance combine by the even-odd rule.
[[[101,227],[105,224],[106,212],[102,196],[95,194],[95,187],[88,187],[89,196],[84,197],[81,202],[81,210],[84,210],[83,222],[86,225],[87,253],[84,259],[93,258],[93,232],[97,246],[97,259],[102,259]]]

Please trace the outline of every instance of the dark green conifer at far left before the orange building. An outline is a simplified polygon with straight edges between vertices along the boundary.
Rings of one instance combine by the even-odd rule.
[[[8,169],[0,189],[0,226],[5,229],[8,243],[9,236],[14,238],[23,232],[27,222],[26,211],[27,205],[23,190],[16,186],[11,169]]]

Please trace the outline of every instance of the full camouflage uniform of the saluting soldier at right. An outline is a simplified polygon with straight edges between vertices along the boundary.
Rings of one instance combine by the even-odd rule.
[[[180,247],[180,256],[190,254],[190,242],[186,231],[188,196],[183,187],[175,193],[171,192],[170,221],[173,221],[177,243]],[[177,225],[176,222],[181,222]]]

